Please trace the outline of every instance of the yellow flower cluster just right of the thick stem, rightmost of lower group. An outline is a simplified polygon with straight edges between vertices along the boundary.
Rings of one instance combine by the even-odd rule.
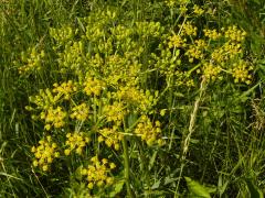
[[[152,122],[147,116],[141,116],[139,123],[135,129],[135,133],[141,138],[142,141],[146,141],[148,145],[158,144],[163,145],[165,141],[161,139],[161,123],[159,121]]]

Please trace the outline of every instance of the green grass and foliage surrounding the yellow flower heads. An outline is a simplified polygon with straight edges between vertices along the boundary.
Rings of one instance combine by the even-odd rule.
[[[227,2],[192,1],[189,9],[198,3],[215,9],[216,14],[184,19],[162,0],[0,1],[0,197],[86,197],[88,188],[76,169],[86,166],[89,158],[96,154],[117,165],[113,172],[116,186],[94,190],[93,194],[98,197],[108,197],[115,191],[119,197],[206,197],[210,188],[212,197],[251,197],[257,194],[262,197],[261,191],[265,193],[265,4],[262,0]],[[96,14],[106,10],[116,11],[119,18],[113,21],[104,19],[109,22],[99,29],[99,25],[94,25],[100,21]],[[87,24],[85,19],[89,15],[94,20],[92,24]],[[160,54],[161,48],[158,45],[166,41],[165,35],[172,35],[171,32],[177,31],[183,20],[190,20],[198,26],[199,37],[203,37],[202,29],[205,26],[221,29],[236,24],[240,30],[245,30],[247,36],[241,58],[247,59],[254,67],[252,84],[235,84],[229,73],[223,75],[223,80],[203,81],[200,74],[192,72],[194,87],[174,86],[176,79],[162,74],[160,67],[155,66],[156,61],[151,53],[167,59]],[[151,34],[147,37],[139,36],[136,22],[144,21],[160,22],[165,34],[161,34],[161,37]],[[123,144],[120,142],[123,148],[115,151],[99,144],[96,131],[103,127],[112,127],[112,122],[100,120],[100,113],[104,116],[100,109],[115,99],[107,99],[105,91],[102,94],[103,99],[98,99],[102,103],[96,106],[96,99],[77,94],[72,98],[73,101],[87,101],[93,118],[85,123],[68,119],[68,125],[64,130],[70,131],[81,124],[82,130],[87,131],[92,143],[86,146],[84,156],[61,156],[47,173],[33,167],[31,147],[51,132],[44,130],[43,120],[32,119],[31,112],[25,110],[25,106],[32,105],[29,97],[38,95],[40,89],[52,88],[54,82],[68,79],[78,81],[82,78],[82,74],[75,74],[76,68],[66,68],[68,73],[60,72],[62,65],[57,61],[61,58],[65,62],[60,53],[74,53],[64,51],[65,43],[55,42],[49,32],[50,28],[60,30],[68,25],[78,30],[70,41],[84,40],[84,52],[92,52],[88,53],[89,57],[82,57],[85,63],[81,63],[81,70],[83,67],[85,70],[91,63],[89,58],[94,57],[95,48],[102,44],[98,40],[95,45],[91,45],[88,38],[82,37],[89,30],[86,25],[106,30],[104,36],[107,40],[115,34],[110,30],[119,24],[132,31],[128,36],[130,40],[123,40],[124,44],[128,42],[131,45],[131,41],[136,41],[137,47],[142,47],[144,52],[137,54],[134,47],[127,51],[118,50],[116,45],[113,48],[123,58],[125,52],[134,52],[137,63],[141,64],[141,72],[137,73],[138,86],[144,90],[151,90],[151,95],[159,90],[158,101],[152,108],[153,112],[149,111],[149,117],[153,123],[156,120],[161,122],[166,145],[148,146],[145,141],[134,135],[132,129],[139,121],[140,112],[130,103],[128,107],[137,113],[131,111],[123,120],[120,129],[130,134],[126,135]],[[139,31],[142,30],[140,28]],[[54,50],[54,46],[59,48]],[[19,64],[22,66],[21,53],[26,53],[32,47],[45,51],[42,67],[40,70],[20,75],[18,68]],[[162,47],[166,48],[166,45]],[[99,53],[106,63],[112,55],[107,50]],[[186,70],[200,64],[200,61],[189,63],[183,54],[184,50],[181,50],[180,56],[176,58],[181,59]],[[177,61],[173,62],[174,65]],[[162,67],[162,64],[160,65]],[[202,66],[198,68],[202,72]],[[104,75],[102,72],[96,77],[105,79]],[[120,79],[123,80],[125,79]],[[113,92],[118,90],[115,85],[106,89]],[[60,105],[65,109],[72,108],[67,102]],[[162,109],[167,109],[163,117],[159,113]],[[54,130],[52,135],[59,144],[64,143],[65,135],[62,131]],[[192,180],[189,182],[188,177]]]

